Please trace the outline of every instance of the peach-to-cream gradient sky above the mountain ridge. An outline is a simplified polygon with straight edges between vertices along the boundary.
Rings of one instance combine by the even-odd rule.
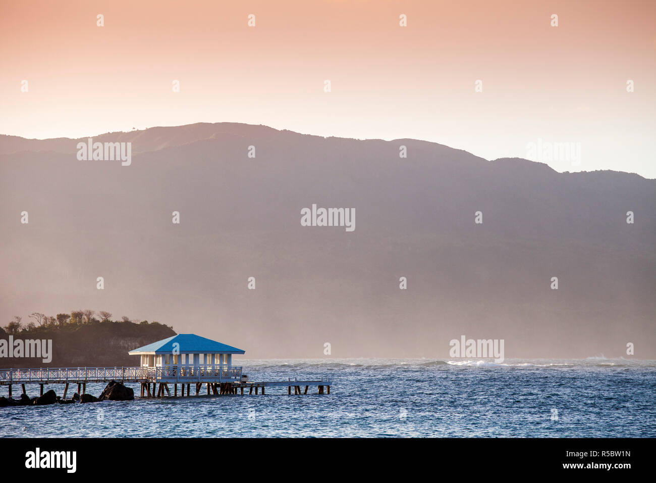
[[[599,0],[3,2],[0,133],[244,122],[655,178],[655,14]],[[558,143],[579,154],[542,150]]]

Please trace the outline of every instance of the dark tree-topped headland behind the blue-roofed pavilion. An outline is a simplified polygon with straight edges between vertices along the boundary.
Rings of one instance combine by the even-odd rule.
[[[14,340],[52,339],[52,361],[1,357],[0,368],[9,367],[113,367],[138,366],[139,356],[129,356],[130,350],[171,337],[175,332],[161,324],[132,322],[100,322],[75,329],[37,329],[12,334]],[[9,339],[3,329],[0,338]]]

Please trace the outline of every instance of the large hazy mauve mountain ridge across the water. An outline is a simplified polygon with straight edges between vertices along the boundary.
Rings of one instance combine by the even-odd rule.
[[[133,143],[131,166],[0,137],[1,325],[64,303],[255,358],[447,357],[461,334],[506,357],[656,358],[654,179],[233,123],[92,137]],[[354,208],[355,231],[301,226],[314,203]]]

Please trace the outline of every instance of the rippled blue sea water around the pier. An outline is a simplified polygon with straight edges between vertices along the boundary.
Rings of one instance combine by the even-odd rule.
[[[5,407],[0,408],[0,436],[656,437],[656,361],[302,359],[241,364],[249,380],[329,376],[335,382],[331,394],[321,396],[287,396],[285,387],[269,389],[265,396]],[[138,396],[138,384],[130,385]],[[87,384],[87,392],[98,396],[104,386]],[[63,391],[62,385],[47,388],[59,395]],[[14,397],[19,391],[14,386]],[[28,386],[28,394],[37,396],[38,386]],[[6,386],[0,395],[7,396]],[[552,409],[558,410],[558,419],[552,419]]]

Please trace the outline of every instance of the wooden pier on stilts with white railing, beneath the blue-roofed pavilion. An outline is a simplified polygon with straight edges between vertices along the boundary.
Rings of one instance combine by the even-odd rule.
[[[23,394],[26,394],[26,384],[39,384],[43,396],[43,386],[47,384],[65,384],[66,399],[69,384],[77,384],[78,394],[85,394],[87,382],[139,382],[142,398],[184,397],[202,394],[203,386],[208,395],[226,396],[239,394],[245,390],[251,395],[266,394],[267,388],[285,388],[287,394],[308,394],[309,388],[316,388],[310,394],[330,394],[332,381],[329,378],[318,380],[298,380],[288,378],[279,381],[245,382],[241,381],[241,367],[211,367],[193,368],[170,367],[58,367],[39,369],[0,369],[0,385],[9,386],[9,397],[12,396],[12,386],[20,384]],[[171,388],[173,386],[173,394]],[[178,385],[180,396],[178,396]],[[186,394],[185,394],[186,390]]]

